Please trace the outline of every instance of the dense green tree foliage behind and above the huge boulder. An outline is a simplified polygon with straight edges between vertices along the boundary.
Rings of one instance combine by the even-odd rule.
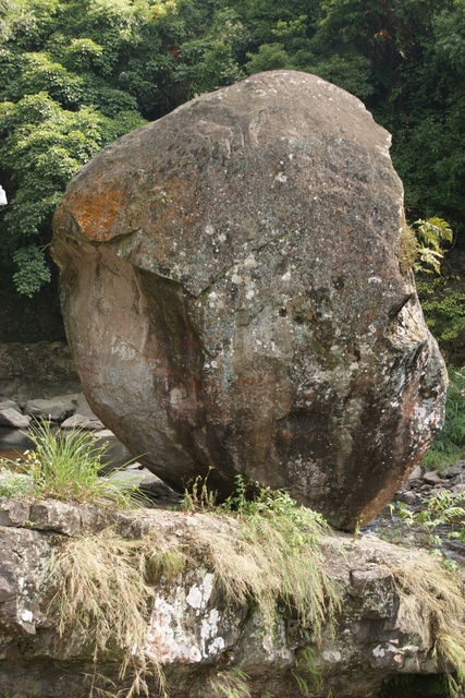
[[[52,212],[106,144],[273,68],[360,97],[393,134],[411,222],[443,217],[461,244],[464,33],[465,0],[0,0],[2,285],[49,280]]]

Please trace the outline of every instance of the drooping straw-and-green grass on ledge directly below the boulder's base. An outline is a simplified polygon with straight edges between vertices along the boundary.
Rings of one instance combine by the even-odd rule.
[[[227,600],[241,604],[254,600],[268,630],[274,626],[278,603],[284,603],[296,610],[318,639],[340,604],[316,542],[318,535],[327,534],[323,526],[311,521],[315,541],[302,537],[295,543],[294,527],[284,517],[221,517],[221,522],[215,535],[205,527],[197,530],[196,547]]]

